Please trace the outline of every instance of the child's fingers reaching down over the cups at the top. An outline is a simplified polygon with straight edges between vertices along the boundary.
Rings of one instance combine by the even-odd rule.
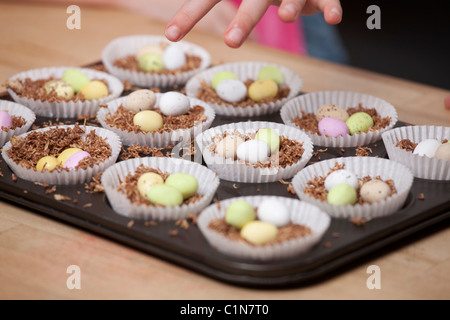
[[[167,24],[166,37],[171,41],[181,40],[220,0],[186,0]],[[243,0],[234,19],[225,31],[225,43],[238,48],[263,17],[270,5],[278,5],[278,16],[285,22],[295,21],[300,14],[322,11],[325,21],[337,24],[342,19],[339,0]]]

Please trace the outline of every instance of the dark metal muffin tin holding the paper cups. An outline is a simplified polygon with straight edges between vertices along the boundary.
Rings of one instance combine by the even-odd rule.
[[[127,94],[126,92],[124,94]],[[10,100],[8,95],[0,99]],[[35,124],[55,121],[37,116]],[[64,119],[75,122],[76,119]],[[280,116],[267,115],[253,121],[282,123]],[[242,121],[238,117],[216,116],[211,127]],[[98,125],[98,124],[97,124]],[[397,127],[404,126],[399,121]],[[366,146],[370,156],[388,158],[383,141]],[[198,148],[197,148],[198,150]],[[356,148],[314,147],[308,165],[325,159],[355,156]],[[118,161],[121,158],[119,157]],[[203,165],[205,165],[203,163]],[[395,214],[371,221],[332,218],[318,245],[295,258],[258,262],[233,258],[212,248],[191,220],[149,223],[121,216],[113,211],[105,193],[86,193],[85,185],[49,188],[14,179],[5,161],[0,162],[0,197],[39,214],[81,227],[153,256],[194,270],[226,283],[261,288],[300,286],[320,281],[344,267],[355,265],[370,254],[387,251],[400,240],[437,225],[450,217],[450,181],[415,178],[404,206]],[[221,180],[214,196],[225,200],[238,196],[276,195],[297,198],[288,191],[288,181],[235,183]],[[50,186],[51,187],[51,186]],[[423,199],[422,199],[423,194]],[[62,195],[63,200],[55,195]],[[75,200],[75,201],[74,201]]]

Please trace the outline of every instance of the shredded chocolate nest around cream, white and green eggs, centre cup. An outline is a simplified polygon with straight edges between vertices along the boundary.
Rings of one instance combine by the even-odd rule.
[[[256,133],[242,134],[239,131],[232,133],[225,132],[219,134],[213,138],[213,143],[208,147],[211,152],[216,152],[217,143],[224,139],[227,135],[238,135],[244,141],[254,139]],[[303,148],[303,142],[291,140],[285,136],[280,136],[280,150],[273,154],[266,162],[250,163],[242,160],[236,160],[239,163],[245,163],[247,166],[253,166],[254,168],[286,168],[296,164],[303,156],[305,149]]]

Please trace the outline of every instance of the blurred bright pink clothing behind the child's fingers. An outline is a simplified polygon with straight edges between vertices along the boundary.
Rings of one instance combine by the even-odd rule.
[[[237,7],[241,0],[230,0]],[[269,47],[289,51],[296,54],[306,54],[306,42],[302,24],[285,23],[278,18],[278,7],[270,6],[264,17],[255,27],[258,42]]]

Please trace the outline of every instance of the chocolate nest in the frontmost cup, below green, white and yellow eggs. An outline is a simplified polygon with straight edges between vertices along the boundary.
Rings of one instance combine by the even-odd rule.
[[[255,210],[256,212],[257,209],[258,208],[256,208]],[[229,238],[232,241],[238,241],[246,243],[251,246],[256,246],[255,244],[252,244],[247,240],[245,240],[244,238],[242,238],[240,230],[236,227],[229,225],[225,221],[225,218],[211,220],[208,224],[208,228],[222,234],[223,236]],[[277,237],[274,240],[265,243],[263,246],[271,246],[297,238],[304,238],[307,235],[310,235],[311,233],[312,233],[311,229],[307,226],[289,223],[285,226],[278,227]]]

